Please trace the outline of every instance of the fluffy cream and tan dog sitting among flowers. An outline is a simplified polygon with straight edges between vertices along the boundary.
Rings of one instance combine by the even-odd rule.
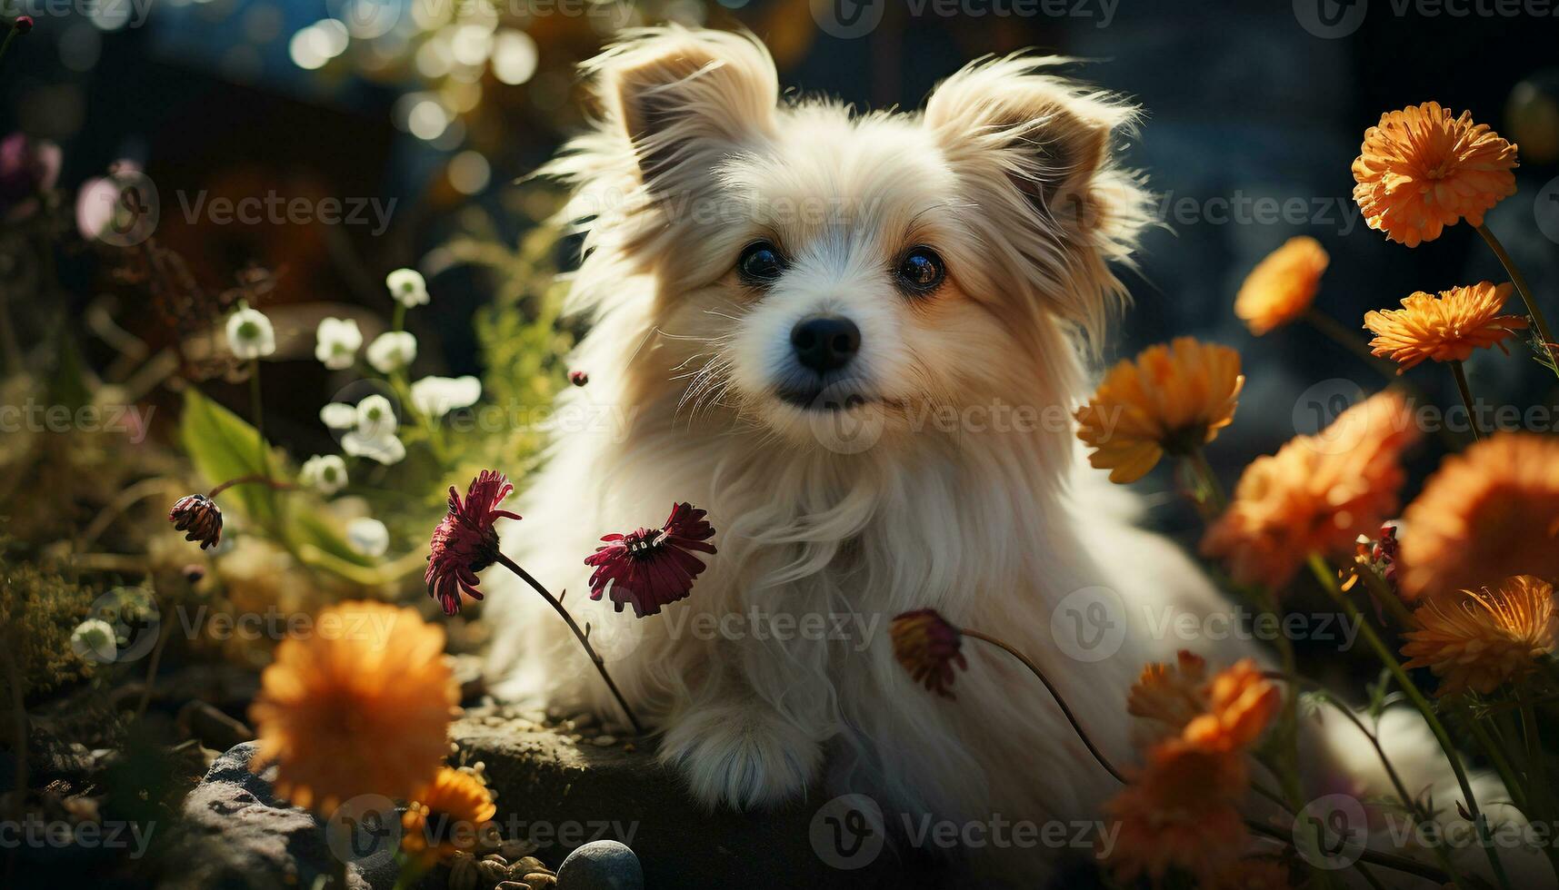
[[[708,807],[856,792],[956,823],[1096,820],[1119,784],[1016,659],[967,639],[942,698],[889,622],[934,608],[1002,637],[1124,765],[1132,681],[1199,648],[1161,622],[1232,609],[1076,441],[1154,220],[1116,159],[1138,109],[1062,64],[977,61],[901,114],[781,100],[745,34],[641,30],[586,65],[599,118],[543,173],[583,220],[567,309],[591,321],[571,357],[589,383],[560,397],[504,541],[569,591]],[[602,535],[675,502],[708,510],[719,550],[686,600],[635,619],[582,592]],[[497,694],[619,714],[505,583],[483,613]],[[1060,857],[974,859],[1034,887]]]

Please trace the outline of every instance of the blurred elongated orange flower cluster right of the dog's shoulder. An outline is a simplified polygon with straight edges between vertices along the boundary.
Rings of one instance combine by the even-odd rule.
[[[1202,553],[1241,585],[1286,585],[1310,553],[1345,552],[1397,511],[1402,452],[1419,436],[1406,401],[1384,391],[1246,468]]]

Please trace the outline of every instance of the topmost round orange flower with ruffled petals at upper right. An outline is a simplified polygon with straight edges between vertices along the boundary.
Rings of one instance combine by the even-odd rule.
[[[1426,101],[1380,115],[1353,161],[1353,200],[1372,229],[1409,248],[1515,193],[1515,147],[1472,112]]]

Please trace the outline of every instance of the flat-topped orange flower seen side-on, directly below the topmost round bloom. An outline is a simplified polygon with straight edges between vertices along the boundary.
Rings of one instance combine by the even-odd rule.
[[[1489,346],[1509,354],[1504,340],[1526,327],[1525,315],[1500,315],[1511,288],[1484,281],[1439,296],[1419,291],[1405,298],[1402,309],[1366,312],[1364,327],[1375,334],[1370,351],[1400,365],[1398,374],[1425,358],[1465,362],[1473,349]]]

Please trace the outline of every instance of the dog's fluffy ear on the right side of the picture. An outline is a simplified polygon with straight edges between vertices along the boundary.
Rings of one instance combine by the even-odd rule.
[[[924,126],[962,182],[992,259],[1098,348],[1126,301],[1108,263],[1130,262],[1152,221],[1151,198],[1113,157],[1137,108],[1048,73],[1060,62],[974,62],[931,94]]]

